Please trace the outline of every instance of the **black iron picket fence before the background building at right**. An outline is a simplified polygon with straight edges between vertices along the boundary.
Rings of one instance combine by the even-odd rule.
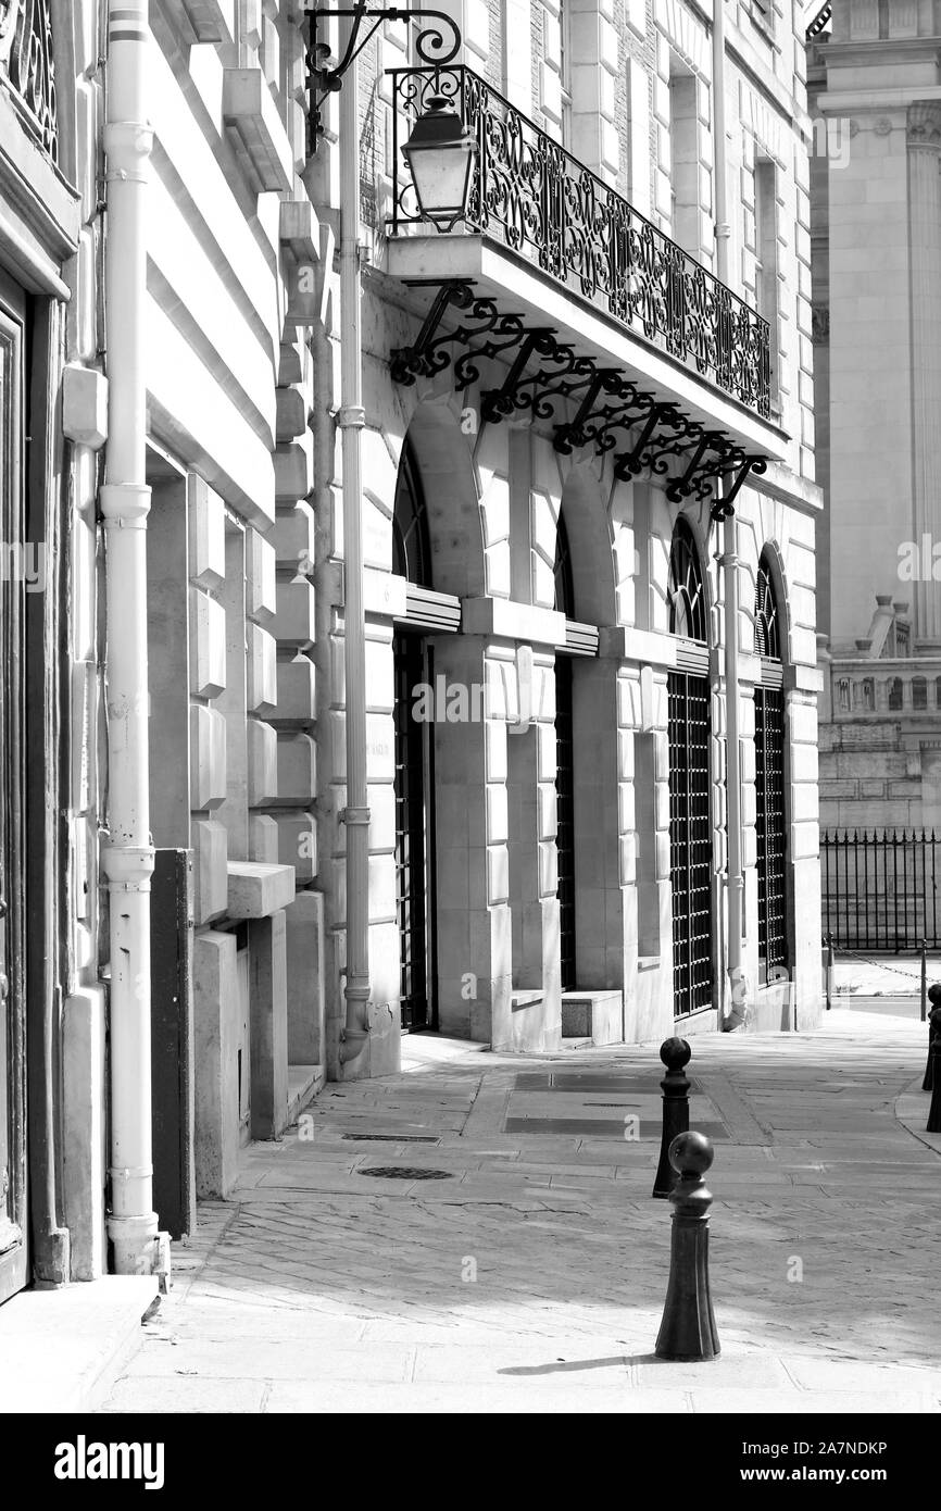
[[[823,932],[841,949],[941,946],[941,839],[933,830],[820,834]]]

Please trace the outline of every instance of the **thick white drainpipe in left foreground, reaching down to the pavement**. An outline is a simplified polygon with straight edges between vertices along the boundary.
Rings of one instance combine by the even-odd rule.
[[[153,131],[143,109],[147,0],[110,0],[107,59],[109,438],[101,515],[107,616],[107,840],[110,905],[110,1215],[119,1275],[159,1269],[153,1210],[148,796],[147,385],[143,195]]]

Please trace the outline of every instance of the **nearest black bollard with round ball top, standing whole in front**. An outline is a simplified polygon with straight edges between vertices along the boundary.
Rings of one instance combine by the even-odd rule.
[[[669,1147],[680,1176],[671,1194],[674,1225],[669,1284],[654,1352],[657,1358],[693,1360],[719,1355],[719,1333],[708,1293],[708,1209],[711,1192],[702,1179],[713,1162],[704,1133],[680,1133]]]

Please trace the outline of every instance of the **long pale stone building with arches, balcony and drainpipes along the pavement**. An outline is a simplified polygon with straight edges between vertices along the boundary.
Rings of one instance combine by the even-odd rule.
[[[0,5],[0,1299],[403,1032],[817,1021],[804,32],[443,3]]]

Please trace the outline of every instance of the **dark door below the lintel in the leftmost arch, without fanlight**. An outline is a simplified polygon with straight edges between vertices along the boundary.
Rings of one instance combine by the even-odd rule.
[[[430,651],[418,635],[396,635],[396,910],[402,1027],[435,1027],[433,725],[414,715],[418,683],[433,686]]]

